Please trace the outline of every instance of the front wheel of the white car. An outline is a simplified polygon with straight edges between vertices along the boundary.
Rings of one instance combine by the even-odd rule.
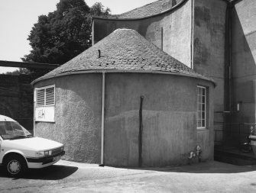
[[[5,170],[11,177],[17,178],[23,175],[27,168],[27,163],[21,156],[8,156],[5,159]]]

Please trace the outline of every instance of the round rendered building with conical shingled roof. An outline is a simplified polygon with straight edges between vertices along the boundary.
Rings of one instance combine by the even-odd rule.
[[[171,166],[196,146],[213,158],[215,83],[137,31],[112,32],[32,85],[34,133],[64,143],[65,159]]]

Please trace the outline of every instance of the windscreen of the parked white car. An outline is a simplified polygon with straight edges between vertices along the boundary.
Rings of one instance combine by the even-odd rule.
[[[0,135],[3,140],[32,137],[32,134],[28,130],[14,121],[0,121]]]

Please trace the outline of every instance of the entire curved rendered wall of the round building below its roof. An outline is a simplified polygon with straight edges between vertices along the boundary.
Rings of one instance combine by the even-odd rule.
[[[66,156],[78,162],[100,162],[102,77],[63,76],[38,82],[56,85],[55,123],[36,122],[37,136],[65,144]],[[213,158],[213,104],[209,95],[206,130],[196,130],[196,85],[212,83],[157,74],[106,73],[105,165],[138,166],[140,96],[143,103],[143,166],[186,164],[197,144],[203,160]]]

